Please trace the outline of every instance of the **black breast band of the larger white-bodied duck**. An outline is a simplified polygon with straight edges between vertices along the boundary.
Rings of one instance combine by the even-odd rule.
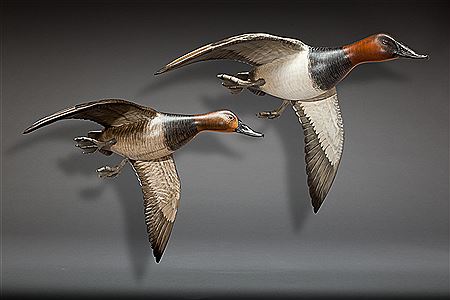
[[[323,91],[333,88],[352,68],[342,48],[311,47],[308,59],[311,78]]]

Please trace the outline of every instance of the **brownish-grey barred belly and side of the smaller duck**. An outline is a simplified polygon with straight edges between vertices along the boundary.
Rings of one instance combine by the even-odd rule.
[[[152,160],[172,154],[164,137],[160,122],[140,122],[132,125],[108,128],[103,140],[116,139],[111,151],[133,160]]]

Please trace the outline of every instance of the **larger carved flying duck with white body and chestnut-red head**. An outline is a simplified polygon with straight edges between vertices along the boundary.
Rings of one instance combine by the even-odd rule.
[[[231,93],[243,89],[283,99],[260,118],[276,118],[292,104],[305,135],[305,161],[314,212],[322,205],[341,160],[344,129],[336,85],[357,65],[396,58],[427,58],[387,34],[376,34],[350,45],[312,47],[303,42],[265,33],[233,36],[177,58],[155,75],[194,62],[231,59],[253,66],[235,76],[217,75]]]

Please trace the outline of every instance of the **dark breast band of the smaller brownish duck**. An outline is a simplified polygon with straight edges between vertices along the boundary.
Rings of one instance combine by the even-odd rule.
[[[172,151],[179,149],[199,133],[194,116],[166,114],[164,137]]]

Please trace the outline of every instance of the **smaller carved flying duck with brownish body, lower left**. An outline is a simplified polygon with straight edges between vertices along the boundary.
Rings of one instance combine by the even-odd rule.
[[[117,176],[129,162],[142,187],[145,223],[156,262],[169,240],[180,201],[173,152],[202,131],[237,132],[253,137],[263,134],[243,124],[231,111],[221,110],[199,115],[176,115],[119,99],[79,104],[36,121],[23,133],[63,119],[91,120],[104,126],[87,137],[76,137],[83,153],[99,151],[124,159],[115,167],[97,169],[100,177]]]

